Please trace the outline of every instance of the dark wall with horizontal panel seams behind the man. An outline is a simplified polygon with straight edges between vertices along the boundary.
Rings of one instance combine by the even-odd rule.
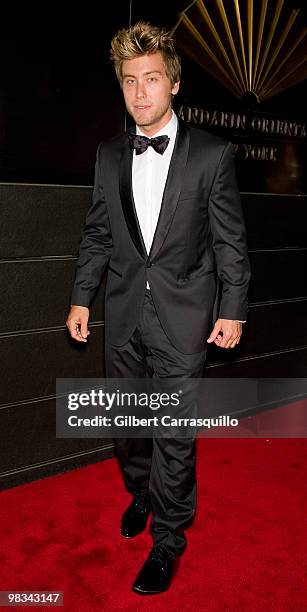
[[[13,486],[112,452],[109,440],[55,437],[56,378],[104,375],[105,280],[91,311],[91,337],[75,345],[65,328],[80,231],[90,203],[94,159],[102,138],[125,124],[108,62],[118,27],[151,19],[172,26],[186,2],[44,5],[44,13],[7,20],[0,60],[0,482]],[[38,24],[38,25],[37,25]],[[5,59],[4,59],[5,58]],[[177,108],[244,108],[188,57]],[[305,117],[306,82],[257,107]],[[254,112],[248,106],[248,112]],[[201,127],[201,126],[200,126]],[[216,133],[221,130],[213,129]],[[227,132],[240,143],[240,136]],[[259,141],[260,142],[260,141]],[[285,146],[283,141],[283,146]],[[279,140],[279,143],[281,141]],[[293,143],[292,143],[293,144]],[[306,147],[300,144],[306,167]],[[283,159],[283,158],[282,158]],[[285,160],[284,160],[284,163]],[[252,265],[250,312],[240,345],[209,347],[210,376],[300,377],[307,367],[306,173],[284,180],[280,168],[236,159]],[[287,166],[286,166],[287,170]],[[277,177],[277,178],[276,178]],[[281,179],[283,182],[281,183]],[[281,184],[283,188],[281,189]],[[290,185],[290,187],[289,187]],[[286,187],[285,187],[286,186]]]

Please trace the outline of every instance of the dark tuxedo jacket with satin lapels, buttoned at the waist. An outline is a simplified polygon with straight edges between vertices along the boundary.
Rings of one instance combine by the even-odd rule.
[[[160,323],[182,353],[204,350],[217,318],[246,319],[250,265],[229,141],[178,120],[149,253],[128,133],[100,143],[71,304],[89,307],[106,270],[105,338],[115,346],[135,330],[147,280]]]

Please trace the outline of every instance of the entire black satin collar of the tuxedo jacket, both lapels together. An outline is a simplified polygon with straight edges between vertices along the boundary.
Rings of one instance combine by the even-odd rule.
[[[129,130],[135,132],[135,127]],[[190,135],[185,123],[178,119],[178,130],[170,167],[164,188],[159,219],[153,237],[150,253],[147,256],[138,216],[132,193],[132,151],[128,138],[124,144],[120,162],[120,197],[124,216],[131,238],[140,255],[152,261],[161,249],[170,229],[173,216],[182,188],[187,158],[189,153]]]

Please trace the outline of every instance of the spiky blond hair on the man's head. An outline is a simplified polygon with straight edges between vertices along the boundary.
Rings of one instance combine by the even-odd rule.
[[[165,72],[173,87],[180,81],[181,62],[172,34],[165,28],[158,28],[146,21],[138,21],[130,28],[119,30],[111,41],[110,58],[120,85],[122,86],[123,81],[124,60],[158,51],[162,53]]]

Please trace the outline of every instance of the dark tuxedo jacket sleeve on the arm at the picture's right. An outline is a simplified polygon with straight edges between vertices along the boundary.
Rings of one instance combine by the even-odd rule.
[[[221,282],[218,318],[245,320],[251,274],[233,156],[233,145],[228,142],[211,189],[208,214],[217,273]]]

